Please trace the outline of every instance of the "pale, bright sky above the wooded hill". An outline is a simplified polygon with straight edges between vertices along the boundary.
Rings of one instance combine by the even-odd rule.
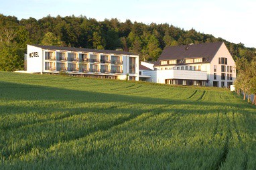
[[[98,21],[169,23],[256,48],[256,0],[0,0],[0,13],[18,19],[83,15]]]

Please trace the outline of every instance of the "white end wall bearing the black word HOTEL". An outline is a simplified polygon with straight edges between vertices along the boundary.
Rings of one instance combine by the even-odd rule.
[[[27,45],[27,72],[43,72],[43,50]]]

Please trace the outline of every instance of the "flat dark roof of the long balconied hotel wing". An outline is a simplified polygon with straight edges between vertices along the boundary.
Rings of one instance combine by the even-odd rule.
[[[88,49],[88,48],[68,48],[68,47],[58,47],[58,46],[42,46],[42,45],[31,45],[38,48],[42,48],[45,50],[63,50],[63,51],[75,51],[75,52],[93,52],[93,53],[104,53],[104,54],[117,54],[117,55],[136,55],[130,52],[122,52],[115,50],[96,50],[96,49]]]

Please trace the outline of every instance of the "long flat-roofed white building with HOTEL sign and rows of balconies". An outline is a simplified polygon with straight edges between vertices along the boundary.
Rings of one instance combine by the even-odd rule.
[[[27,45],[27,72],[139,80],[139,56],[129,52]]]

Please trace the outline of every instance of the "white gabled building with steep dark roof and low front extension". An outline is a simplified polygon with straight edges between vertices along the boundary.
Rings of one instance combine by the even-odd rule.
[[[149,82],[195,86],[229,87],[236,78],[235,61],[223,42],[165,48],[153,69],[142,72]]]

